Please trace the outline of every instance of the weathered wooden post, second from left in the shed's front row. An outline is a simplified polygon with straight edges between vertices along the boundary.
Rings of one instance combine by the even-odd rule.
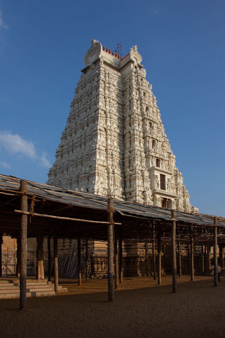
[[[109,301],[114,301],[114,287],[113,287],[113,199],[108,198],[108,295]]]

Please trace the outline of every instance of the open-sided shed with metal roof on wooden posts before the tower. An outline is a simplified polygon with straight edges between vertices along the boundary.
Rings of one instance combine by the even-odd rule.
[[[115,274],[118,270],[117,239],[122,241],[172,244],[173,291],[176,292],[175,241],[191,243],[192,269],[193,243],[225,238],[225,223],[197,214],[189,214],[160,207],[106,198],[84,192],[20,180],[0,175],[0,232],[21,239],[20,287],[21,308],[25,307],[26,293],[26,239],[27,237],[53,237],[55,286],[57,288],[57,238],[108,241],[109,300],[113,300],[113,251]],[[220,231],[217,235],[217,227]],[[158,255],[160,257],[160,252]],[[215,252],[216,254],[216,252]],[[121,256],[121,255],[120,255]],[[215,257],[215,255],[214,255]],[[79,252],[78,252],[79,260]],[[161,271],[161,259],[158,270]],[[217,261],[214,262],[215,271]],[[119,273],[117,272],[117,279]],[[214,274],[216,275],[216,273]],[[79,276],[81,279],[81,276]],[[159,284],[161,273],[158,274]],[[218,281],[215,278],[215,285]],[[26,287],[25,287],[26,290]]]

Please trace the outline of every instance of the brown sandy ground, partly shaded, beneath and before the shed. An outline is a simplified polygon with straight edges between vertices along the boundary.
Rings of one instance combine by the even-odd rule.
[[[108,302],[107,280],[60,280],[68,293],[28,298],[18,310],[19,299],[0,300],[1,338],[193,338],[225,336],[225,276],[218,287],[212,277],[172,277],[162,285],[152,277],[124,278]]]

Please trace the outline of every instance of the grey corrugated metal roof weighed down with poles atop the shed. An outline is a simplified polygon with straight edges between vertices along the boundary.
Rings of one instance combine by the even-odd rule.
[[[20,187],[20,179],[13,176],[0,175],[0,190],[18,191]],[[99,210],[107,209],[107,197],[88,194],[85,192],[66,190],[47,184],[41,184],[27,180],[28,193],[31,195],[44,198],[46,200],[57,201],[74,206],[92,208]],[[135,202],[128,202],[113,199],[113,209],[124,216],[135,216],[140,218],[150,218],[171,221],[171,210],[147,206]],[[198,225],[213,225],[213,220],[198,214],[190,214],[176,211],[176,220],[182,223],[191,223]],[[219,226],[225,226],[223,222],[218,221]]]

